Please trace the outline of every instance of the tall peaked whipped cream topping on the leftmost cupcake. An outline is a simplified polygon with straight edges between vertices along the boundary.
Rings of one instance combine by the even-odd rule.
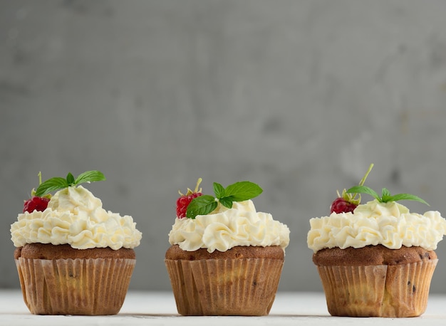
[[[11,225],[14,246],[26,243],[70,244],[73,248],[135,248],[142,233],[132,216],[105,211],[102,201],[83,186],[62,189],[44,211],[19,214]]]

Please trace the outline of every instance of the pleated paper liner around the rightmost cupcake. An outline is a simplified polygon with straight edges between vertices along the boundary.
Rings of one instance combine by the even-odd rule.
[[[318,266],[328,312],[350,317],[415,317],[427,307],[437,259],[404,265]]]

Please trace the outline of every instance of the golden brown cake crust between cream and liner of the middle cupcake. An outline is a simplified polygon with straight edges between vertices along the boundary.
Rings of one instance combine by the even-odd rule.
[[[284,259],[284,250],[280,246],[237,246],[227,251],[214,251],[209,253],[207,249],[200,248],[197,251],[184,251],[180,246],[173,245],[167,249],[166,259],[198,261],[200,259],[232,259],[232,258],[272,258]]]

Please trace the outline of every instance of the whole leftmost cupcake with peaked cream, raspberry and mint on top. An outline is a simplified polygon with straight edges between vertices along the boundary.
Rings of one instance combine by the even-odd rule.
[[[39,174],[40,177],[40,174]],[[135,268],[141,233],[131,216],[105,211],[80,184],[89,171],[41,183],[11,225],[26,306],[36,315],[115,315]],[[51,196],[51,191],[57,191]]]

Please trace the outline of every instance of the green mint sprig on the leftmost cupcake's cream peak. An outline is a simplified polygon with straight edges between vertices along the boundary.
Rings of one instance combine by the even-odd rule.
[[[79,174],[76,179],[73,177],[73,174],[68,172],[66,179],[63,179],[62,177],[54,177],[39,184],[38,188],[36,189],[35,196],[41,197],[50,193],[51,191],[68,188],[68,186],[77,186],[78,184],[83,184],[85,182],[96,182],[103,180],[105,180],[105,176],[99,171],[83,172]]]

